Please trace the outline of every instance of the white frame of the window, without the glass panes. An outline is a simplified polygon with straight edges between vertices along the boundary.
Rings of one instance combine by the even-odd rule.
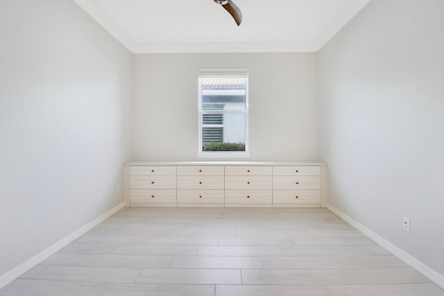
[[[203,78],[245,78],[244,110],[203,110]],[[203,114],[244,114],[245,151],[203,151]],[[225,125],[225,124],[224,124]],[[225,138],[225,134],[224,134]],[[250,157],[248,144],[248,69],[199,69],[198,70],[198,157]]]

